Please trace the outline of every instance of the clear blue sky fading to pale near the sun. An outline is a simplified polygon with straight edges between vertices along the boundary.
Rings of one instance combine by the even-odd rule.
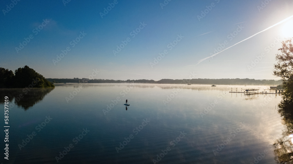
[[[233,46],[292,16],[290,0],[16,1],[0,2],[0,67],[28,65],[46,78],[88,78],[95,69],[93,78],[114,80],[183,79],[191,72],[192,78],[277,79],[275,54],[292,37],[286,28],[293,18]]]

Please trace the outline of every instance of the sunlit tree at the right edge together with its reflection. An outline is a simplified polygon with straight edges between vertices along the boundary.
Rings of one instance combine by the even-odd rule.
[[[281,53],[276,55],[277,64],[274,65],[273,74],[280,77],[285,92],[278,104],[278,112],[286,125],[283,137],[275,145],[275,155],[281,163],[293,162],[293,38],[287,38],[282,42]]]

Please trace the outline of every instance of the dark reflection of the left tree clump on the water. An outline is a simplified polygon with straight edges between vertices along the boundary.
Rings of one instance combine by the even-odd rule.
[[[18,107],[28,110],[36,103],[42,101],[54,88],[32,88],[29,91],[21,88],[0,89],[0,104],[4,103],[4,97],[8,96],[9,102],[14,100]]]

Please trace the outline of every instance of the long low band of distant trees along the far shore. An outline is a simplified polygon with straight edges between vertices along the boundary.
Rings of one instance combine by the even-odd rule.
[[[109,80],[109,79],[87,79],[87,78],[47,78],[52,83],[149,83],[149,84],[215,84],[215,85],[279,85],[280,81],[275,80],[255,80],[249,78],[222,78],[222,79],[161,79],[154,80]]]

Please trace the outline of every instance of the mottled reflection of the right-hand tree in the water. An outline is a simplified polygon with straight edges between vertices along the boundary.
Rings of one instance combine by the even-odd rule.
[[[274,152],[280,163],[293,163],[293,109],[290,104],[285,104],[278,112],[283,117],[286,128],[283,130],[283,137],[274,144]]]

